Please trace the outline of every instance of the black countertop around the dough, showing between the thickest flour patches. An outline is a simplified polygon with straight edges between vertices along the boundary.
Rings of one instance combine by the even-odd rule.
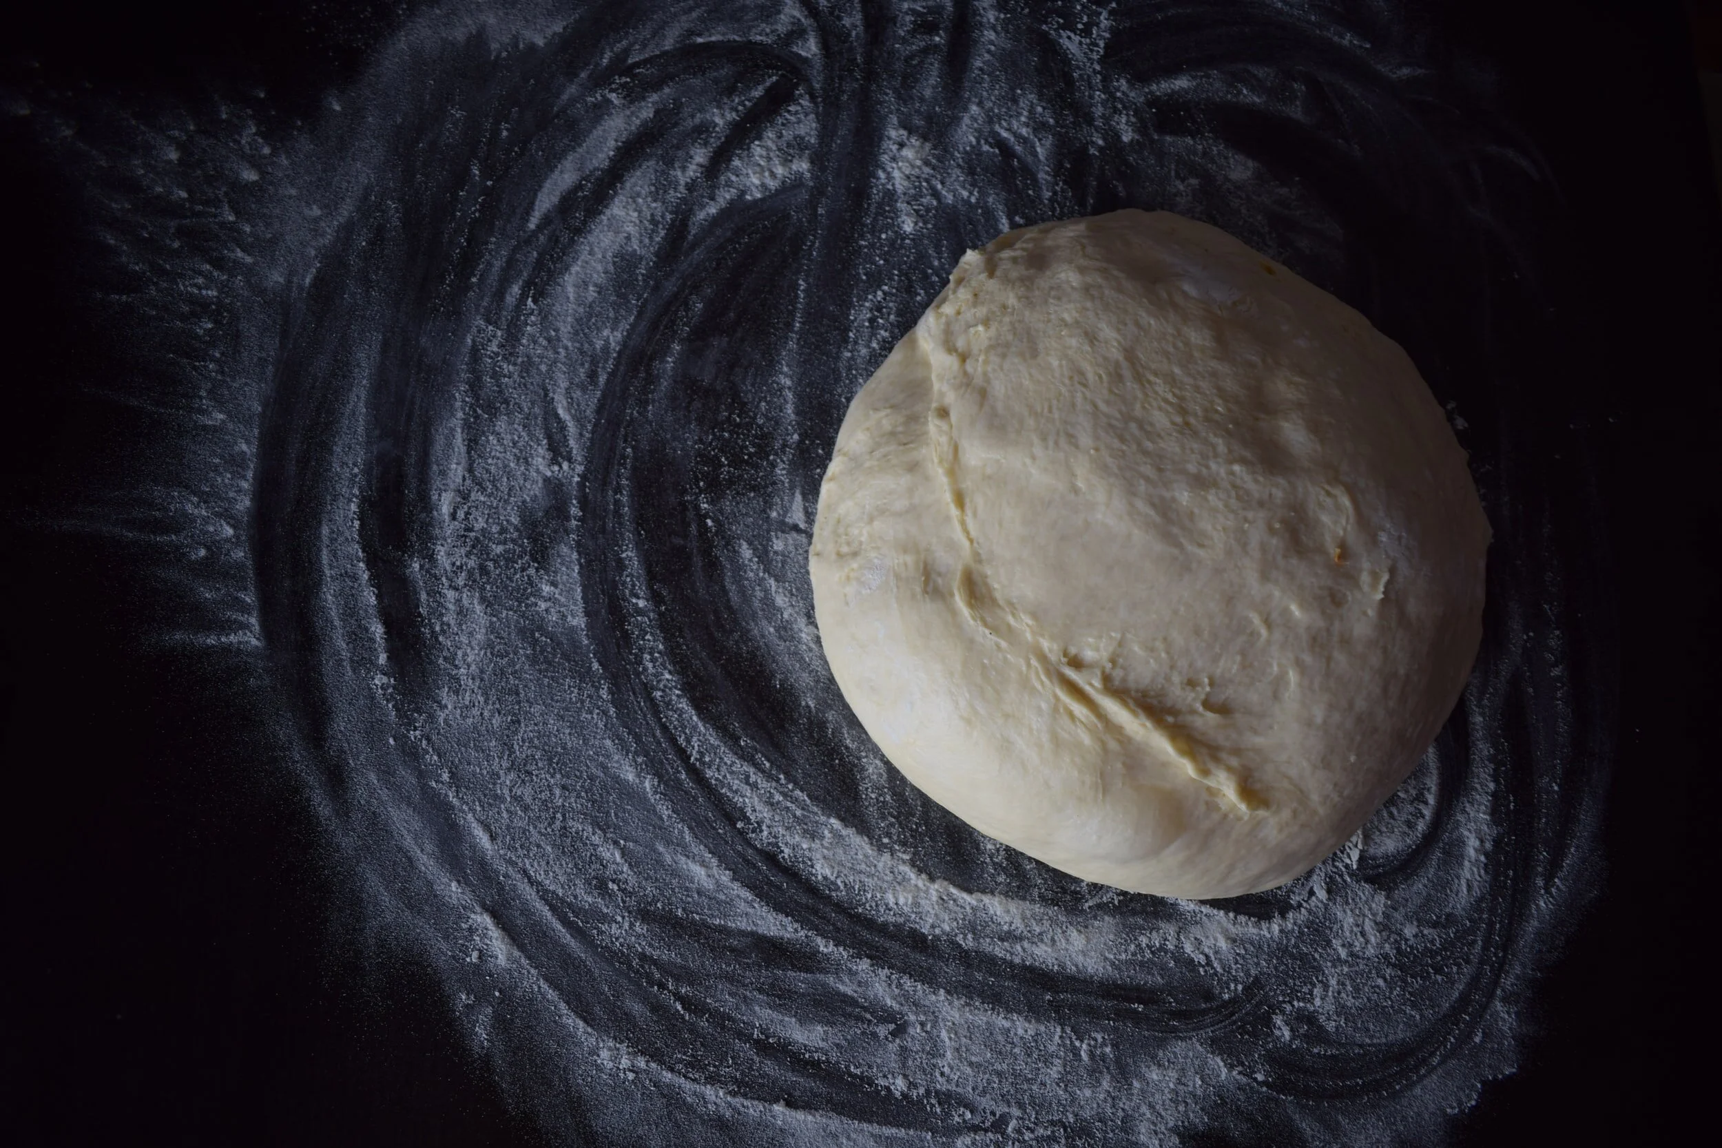
[[[15,787],[3,1088],[9,1124],[29,1129],[22,1143],[742,1143],[737,1129],[751,1124],[701,1107],[718,1095],[868,1120],[854,1134],[878,1143],[890,1126],[935,1141],[964,1129],[1000,1143],[1140,1139],[1128,1122],[1061,1122],[1045,1103],[1054,1084],[1025,1084],[1013,1126],[975,1084],[940,1091],[913,1079],[926,1060],[906,1060],[904,1091],[892,1093],[858,1067],[871,1053],[846,1060],[815,1036],[785,1052],[787,1024],[749,1043],[732,1029],[753,1014],[715,1003],[734,1000],[727,993],[758,990],[808,1024],[864,1028],[883,1014],[863,990],[882,981],[833,971],[794,941],[768,945],[758,928],[696,924],[687,909],[665,909],[670,895],[663,905],[618,895],[615,923],[639,943],[573,945],[604,931],[573,890],[599,869],[537,869],[522,893],[517,876],[542,854],[515,840],[508,811],[556,805],[505,790],[554,775],[575,785],[561,799],[573,807],[599,792],[579,783],[604,761],[684,754],[685,768],[641,766],[642,776],[694,780],[661,797],[677,812],[665,833],[716,857],[718,886],[746,890],[904,984],[1102,1041],[1124,1067],[1099,1072],[1097,1086],[1128,1081],[1130,1055],[1152,1057],[1154,1041],[1200,1043],[1238,1083],[1190,1086],[1207,1100],[1174,1105],[1190,1122],[1183,1143],[1352,1143],[1388,1134],[1379,1129],[1405,1143],[1650,1143],[1684,1131],[1715,1026],[1700,967],[1712,931],[1700,850],[1717,830],[1707,709],[1722,637],[1710,554],[1722,527],[1712,461],[1722,458],[1722,234],[1681,10],[1192,3],[1118,5],[1099,19],[1081,5],[1006,5],[1002,15],[837,5],[823,24],[809,17],[827,29],[818,50],[763,31],[770,50],[746,46],[782,7],[771,3],[696,14],[689,26],[704,31],[668,40],[722,48],[684,45],[656,57],[656,71],[630,72],[649,53],[627,46],[629,29],[670,7],[613,7],[511,53],[420,38],[443,46],[405,62],[398,48],[387,55],[389,38],[424,5],[164,5],[115,22],[62,3],[29,14],[5,45],[14,274],[3,317],[21,353],[0,451]],[[1081,57],[1073,43],[1093,46],[1092,76],[1068,71]],[[367,65],[381,69],[369,81]],[[990,69],[985,84],[976,69]],[[635,102],[663,122],[608,169],[563,160],[599,115],[567,129],[544,112],[568,76],[603,76],[611,107]],[[1180,88],[1180,76],[1205,86]],[[1045,98],[1013,103],[1014,88]],[[744,112],[715,112],[728,124],[716,150],[730,158],[771,124],[792,124],[802,91],[815,93],[804,102],[816,134],[847,133],[846,143],[815,150],[811,174],[756,172],[756,194],[723,200],[716,215],[687,208],[654,251],[630,256],[637,263],[623,267],[613,246],[580,248],[616,227],[591,205],[627,201],[622,177],[606,191],[603,172],[708,146],[677,124],[697,124],[737,91]],[[355,93],[369,103],[355,107]],[[339,110],[331,96],[344,100]],[[1011,131],[976,134],[957,131],[959,107],[1047,119],[999,117]],[[1135,119],[1100,122],[1118,108]],[[503,122],[548,143],[511,151],[491,131]],[[1033,139],[1045,146],[1021,146]],[[944,194],[902,191],[938,164],[963,181]],[[499,172],[518,184],[513,205]],[[288,222],[279,200],[246,198],[253,182],[327,194]],[[887,184],[897,188],[889,203]],[[546,198],[551,186],[561,200]],[[758,811],[735,797],[763,776],[859,826],[880,855],[1054,921],[1145,936],[1226,914],[1250,936],[1273,933],[1262,921],[1322,928],[1309,883],[1207,916],[1155,898],[1100,904],[988,850],[902,787],[844,781],[866,776],[864,754],[840,721],[797,718],[825,695],[818,683],[811,694],[780,683],[790,663],[773,659],[792,656],[790,639],[758,639],[770,611],[747,596],[777,582],[735,575],[739,554],[778,535],[730,537],[722,515],[703,525],[684,513],[780,509],[816,482],[847,394],[964,244],[1000,225],[1124,205],[1209,219],[1359,306],[1412,351],[1472,451],[1496,527],[1491,639],[1472,704],[1426,781],[1431,809],[1459,809],[1433,824],[1469,824],[1467,793],[1484,802],[1476,826],[1488,830],[1477,840],[1493,885],[1462,902],[1452,936],[1464,945],[1428,950],[1421,971],[1383,959],[1384,972],[1410,978],[1405,1014],[1422,1017],[1410,1036],[1366,1026],[1362,1043],[1298,1033],[1276,1045],[1274,1022],[1304,1015],[1283,1002],[1328,959],[1309,941],[1264,948],[1236,993],[1224,978],[1085,979],[987,955],[973,938],[935,936],[932,917],[887,919],[864,895],[823,886],[794,850],[761,843]],[[532,244],[498,238],[510,212]],[[704,231],[685,222],[696,217]],[[620,332],[620,349],[585,386],[594,351],[570,355],[506,317],[527,296],[553,308],[567,260],[599,256],[608,270],[580,282],[608,294],[568,329],[596,341]],[[260,263],[315,275],[270,277]],[[787,320],[761,303],[787,282],[823,291],[823,310],[802,305]],[[616,299],[635,299],[627,318]],[[477,327],[461,329],[468,320],[501,332],[479,341],[494,358],[472,361],[513,353],[525,365],[451,368],[479,344]],[[465,334],[441,343],[451,329]],[[749,358],[759,348],[770,368]],[[567,367],[544,368],[556,355]],[[510,415],[510,387],[530,391],[541,373],[573,379],[544,394],[587,394],[591,408]],[[487,379],[510,386],[487,389]],[[453,382],[444,394],[427,380]],[[358,406],[344,404],[351,396]],[[220,429],[246,418],[251,429]],[[449,435],[482,461],[472,444],[496,427],[554,429],[558,418],[585,446],[532,454],[542,485],[487,504],[510,509],[518,552],[498,551],[474,585],[425,575],[427,563],[463,554],[427,540],[456,511],[420,508],[443,492]],[[539,439],[554,447],[554,434]],[[522,461],[529,453],[522,446]],[[172,501],[157,499],[169,489]],[[363,578],[343,580],[344,556]],[[496,757],[480,733],[494,728],[468,723],[437,742],[434,723],[403,719],[415,706],[451,711],[474,682],[501,697],[505,678],[515,701],[491,697],[486,713],[554,707],[551,694],[530,694],[548,678],[527,654],[448,688],[467,654],[448,639],[458,611],[446,602],[482,606],[486,590],[518,599],[508,571],[537,570],[554,585],[560,561],[579,571],[568,626],[580,637],[546,626],[532,642],[551,651],[546,664],[591,659],[596,670],[570,671],[567,688],[615,688],[615,725],[632,749],[594,750],[572,773],[513,775],[486,764]],[[773,609],[792,618],[797,608]],[[387,680],[375,694],[353,670],[351,651],[369,640]],[[668,670],[639,670],[653,659]],[[684,709],[692,731],[678,725]],[[508,752],[522,757],[599,738],[508,728]],[[396,733],[417,749],[396,757]],[[706,737],[742,756],[766,747],[763,764],[709,764]],[[448,771],[446,788],[420,792],[434,768]],[[618,824],[634,824],[630,807],[616,807]],[[601,823],[582,816],[585,830]],[[1440,859],[1441,840],[1457,838],[1431,830],[1412,852],[1366,855],[1362,876],[1335,871],[1333,895],[1359,881],[1384,897],[1440,892],[1445,876],[1472,873]],[[405,861],[415,849],[430,857],[424,869]],[[668,874],[634,866],[647,886]],[[455,874],[463,892],[432,910],[415,892],[429,888],[427,873]],[[561,914],[560,931],[534,931],[532,910],[544,907]],[[449,964],[463,912],[505,938],[474,940],[480,979],[506,1000],[482,1022],[470,1012],[479,981]],[[746,945],[727,948],[739,935]],[[703,964],[699,954],[723,955]],[[642,1065],[696,1081],[704,1100],[646,1105],[616,1083],[635,1079],[625,1065],[611,1084],[556,1076],[549,1062],[568,1046],[534,1028],[536,998],[508,979],[520,967],[542,972],[585,1028],[627,1038]],[[797,978],[827,978],[827,988],[784,988]],[[854,990],[854,1012],[832,1010],[830,986]],[[1417,997],[1443,986],[1445,1003]],[[677,1019],[701,1007],[711,1012],[697,1022]],[[883,1017],[878,1040],[913,1045],[918,1015]],[[1140,1048],[1138,1029],[1154,1034]],[[1000,1072],[1031,1076],[1028,1057],[999,1045]],[[1488,1081],[1514,1060],[1514,1074]],[[1045,1064],[1066,1071],[1062,1053]],[[1467,1079],[1488,1083],[1448,1126],[1429,1105],[1464,1103]],[[637,1091],[670,1096],[658,1084]],[[1161,1108],[1145,1102],[1143,1112]]]

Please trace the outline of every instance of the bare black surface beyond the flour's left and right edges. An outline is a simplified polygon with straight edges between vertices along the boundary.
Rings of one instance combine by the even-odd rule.
[[[134,107],[210,95],[288,129],[413,5],[62,0],[5,17],[0,91]],[[1713,1105],[1708,972],[1722,649],[1722,231],[1701,93],[1722,2],[1438,5],[1502,65],[1579,248],[1564,286],[1591,387],[1622,659],[1608,881],[1543,983],[1522,1069],[1464,1145],[1682,1143]],[[267,93],[260,96],[257,93]],[[1722,155],[1722,151],[1719,151]],[[74,176],[0,115],[5,969],[0,1139],[17,1145],[513,1145],[429,978],[379,990],[325,945],[312,821],[200,659],[136,639],[158,609],[88,535],[38,528],[121,473],[81,386],[121,351],[88,305]],[[413,1007],[415,997],[429,1002]],[[1700,1124],[1701,1126],[1701,1124]]]

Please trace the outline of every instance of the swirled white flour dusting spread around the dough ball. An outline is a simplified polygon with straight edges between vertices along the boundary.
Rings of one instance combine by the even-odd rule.
[[[174,176],[232,205],[227,325],[174,337],[241,332],[183,370],[212,449],[155,463],[232,556],[176,592],[276,683],[375,943],[548,1139],[1424,1143],[1512,1071],[1595,881],[1612,668],[1514,382],[1553,189],[1438,45],[1386,3],[456,5],[315,131],[188,129],[250,176]],[[971,831],[813,626],[849,398],[966,246],[1119,207],[1407,346],[1495,527],[1422,766],[1230,902]]]

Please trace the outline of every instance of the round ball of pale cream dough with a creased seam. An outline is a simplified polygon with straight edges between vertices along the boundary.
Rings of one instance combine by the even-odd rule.
[[[844,418],[809,566],[844,697],[928,797],[1088,881],[1233,897],[1410,773],[1488,542],[1398,344],[1126,210],[963,256]]]

